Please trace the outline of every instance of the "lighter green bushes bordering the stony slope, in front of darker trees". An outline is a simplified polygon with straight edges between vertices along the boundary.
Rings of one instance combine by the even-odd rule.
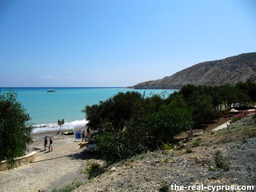
[[[107,163],[115,163],[147,150],[156,150],[163,143],[172,143],[173,137],[187,130],[189,116],[181,109],[163,108],[159,112],[133,119],[125,132],[104,133],[98,138],[99,152]],[[164,145],[172,148],[170,144]]]

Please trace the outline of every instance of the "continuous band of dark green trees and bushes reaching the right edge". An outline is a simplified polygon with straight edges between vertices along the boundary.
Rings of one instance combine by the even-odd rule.
[[[118,93],[83,110],[90,129],[104,130],[97,138],[99,152],[108,163],[127,159],[172,143],[173,138],[205,122],[220,118],[232,104],[255,101],[256,83],[235,86],[188,84],[169,97],[145,97],[138,92]]]

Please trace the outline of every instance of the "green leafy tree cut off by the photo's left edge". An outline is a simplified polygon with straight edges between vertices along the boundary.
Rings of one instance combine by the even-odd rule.
[[[26,144],[32,141],[29,115],[17,101],[17,93],[0,93],[0,161],[15,167],[15,158],[26,154]]]

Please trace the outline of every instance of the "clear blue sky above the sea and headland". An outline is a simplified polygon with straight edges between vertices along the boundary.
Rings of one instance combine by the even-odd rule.
[[[255,51],[255,0],[0,0],[0,86],[132,86]]]

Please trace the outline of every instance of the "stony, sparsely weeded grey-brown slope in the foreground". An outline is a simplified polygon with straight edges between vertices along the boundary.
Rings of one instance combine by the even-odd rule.
[[[173,149],[134,156],[113,164],[74,191],[177,191],[172,190],[175,184],[234,188],[254,185],[254,189],[244,191],[255,191],[255,125],[255,119],[248,116],[231,124],[229,130],[201,132]]]

